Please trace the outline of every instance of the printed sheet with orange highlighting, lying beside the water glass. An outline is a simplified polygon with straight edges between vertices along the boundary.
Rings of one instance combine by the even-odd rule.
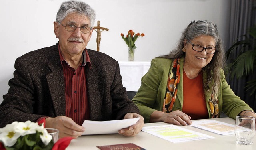
[[[192,122],[193,123],[190,126],[214,132],[220,135],[232,135],[235,133],[235,126],[225,122],[216,120],[198,120]]]

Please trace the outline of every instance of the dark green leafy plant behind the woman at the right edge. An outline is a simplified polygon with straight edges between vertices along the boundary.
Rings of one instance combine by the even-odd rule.
[[[236,41],[226,52],[226,58],[230,62],[227,71],[231,79],[240,79],[256,71],[256,26],[249,28],[248,32],[249,36],[244,35],[244,40]],[[239,53],[236,59],[232,59],[230,56],[237,49]],[[246,90],[250,91],[250,95],[256,91],[256,75],[246,83]]]

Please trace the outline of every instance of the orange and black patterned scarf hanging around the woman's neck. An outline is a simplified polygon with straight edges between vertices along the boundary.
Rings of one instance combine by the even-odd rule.
[[[174,76],[175,75],[175,76]],[[176,95],[178,92],[178,83],[180,82],[180,59],[175,59],[172,62],[166,87],[166,96],[163,104],[163,112],[170,113],[173,109]],[[211,109],[211,118],[219,117],[219,101],[217,95],[211,94],[211,99],[208,101]]]

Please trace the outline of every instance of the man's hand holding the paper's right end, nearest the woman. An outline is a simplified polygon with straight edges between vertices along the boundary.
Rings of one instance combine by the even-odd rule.
[[[119,130],[119,134],[122,134],[123,136],[135,136],[137,135],[142,127],[144,126],[144,118],[136,113],[127,113],[124,116],[124,119],[132,119],[132,118],[140,118],[140,120],[138,120],[138,122],[132,126],[129,126],[129,128],[123,128],[121,130]]]

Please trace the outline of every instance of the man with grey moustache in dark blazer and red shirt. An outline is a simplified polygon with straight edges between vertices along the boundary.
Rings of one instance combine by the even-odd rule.
[[[84,120],[140,120],[119,131],[134,136],[143,117],[128,99],[116,60],[86,49],[95,20],[94,10],[79,1],[63,2],[54,22],[59,42],[16,59],[14,78],[0,105],[0,127],[14,121],[44,122],[60,137],[78,137]]]

